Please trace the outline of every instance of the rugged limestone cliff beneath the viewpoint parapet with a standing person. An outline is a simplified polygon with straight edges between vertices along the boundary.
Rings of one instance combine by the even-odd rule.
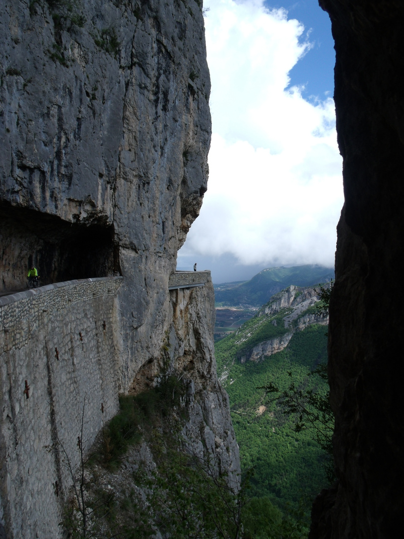
[[[239,484],[239,448],[228,413],[228,395],[220,386],[216,372],[212,282],[203,289],[171,292],[171,304],[171,368],[185,374],[191,401],[190,420],[184,433],[200,457],[215,455],[220,471],[227,471],[235,487]],[[206,317],[204,313],[211,315]]]

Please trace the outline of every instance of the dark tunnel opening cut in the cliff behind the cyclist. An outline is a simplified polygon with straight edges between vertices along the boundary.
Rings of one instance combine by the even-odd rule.
[[[41,285],[120,274],[113,225],[67,223],[57,216],[0,205],[0,290],[26,288],[28,268]]]

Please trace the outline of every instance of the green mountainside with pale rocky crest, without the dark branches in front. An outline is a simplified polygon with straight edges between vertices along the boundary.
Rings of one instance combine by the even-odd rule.
[[[288,372],[293,372],[298,388],[315,384],[315,391],[326,392],[326,382],[307,376],[327,358],[328,318],[318,315],[317,301],[314,288],[290,286],[215,344],[242,471],[253,466],[253,495],[266,496],[283,510],[288,503],[297,508],[302,496],[310,506],[310,500],[327,484],[322,466],[327,456],[313,432],[294,432],[294,419],[285,416],[258,388],[272,382],[287,389],[291,382]]]

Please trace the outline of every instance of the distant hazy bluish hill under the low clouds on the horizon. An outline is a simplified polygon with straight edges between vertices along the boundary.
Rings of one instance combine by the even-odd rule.
[[[334,278],[334,269],[305,265],[263,269],[251,280],[214,285],[216,306],[260,307],[289,285],[315,286]]]

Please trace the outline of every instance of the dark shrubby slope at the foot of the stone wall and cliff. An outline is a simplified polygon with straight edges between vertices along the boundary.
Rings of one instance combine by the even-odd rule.
[[[62,523],[68,536],[146,539],[158,530],[176,539],[303,539],[307,528],[299,510],[282,513],[268,496],[250,499],[248,471],[234,489],[214,455],[195,454],[187,445],[184,396],[183,383],[170,376],[155,389],[121,397],[120,412],[88,459],[85,401],[76,444],[79,473],[73,474],[61,441],[49,448],[62,454],[74,485]],[[144,444],[150,458],[139,465]]]

